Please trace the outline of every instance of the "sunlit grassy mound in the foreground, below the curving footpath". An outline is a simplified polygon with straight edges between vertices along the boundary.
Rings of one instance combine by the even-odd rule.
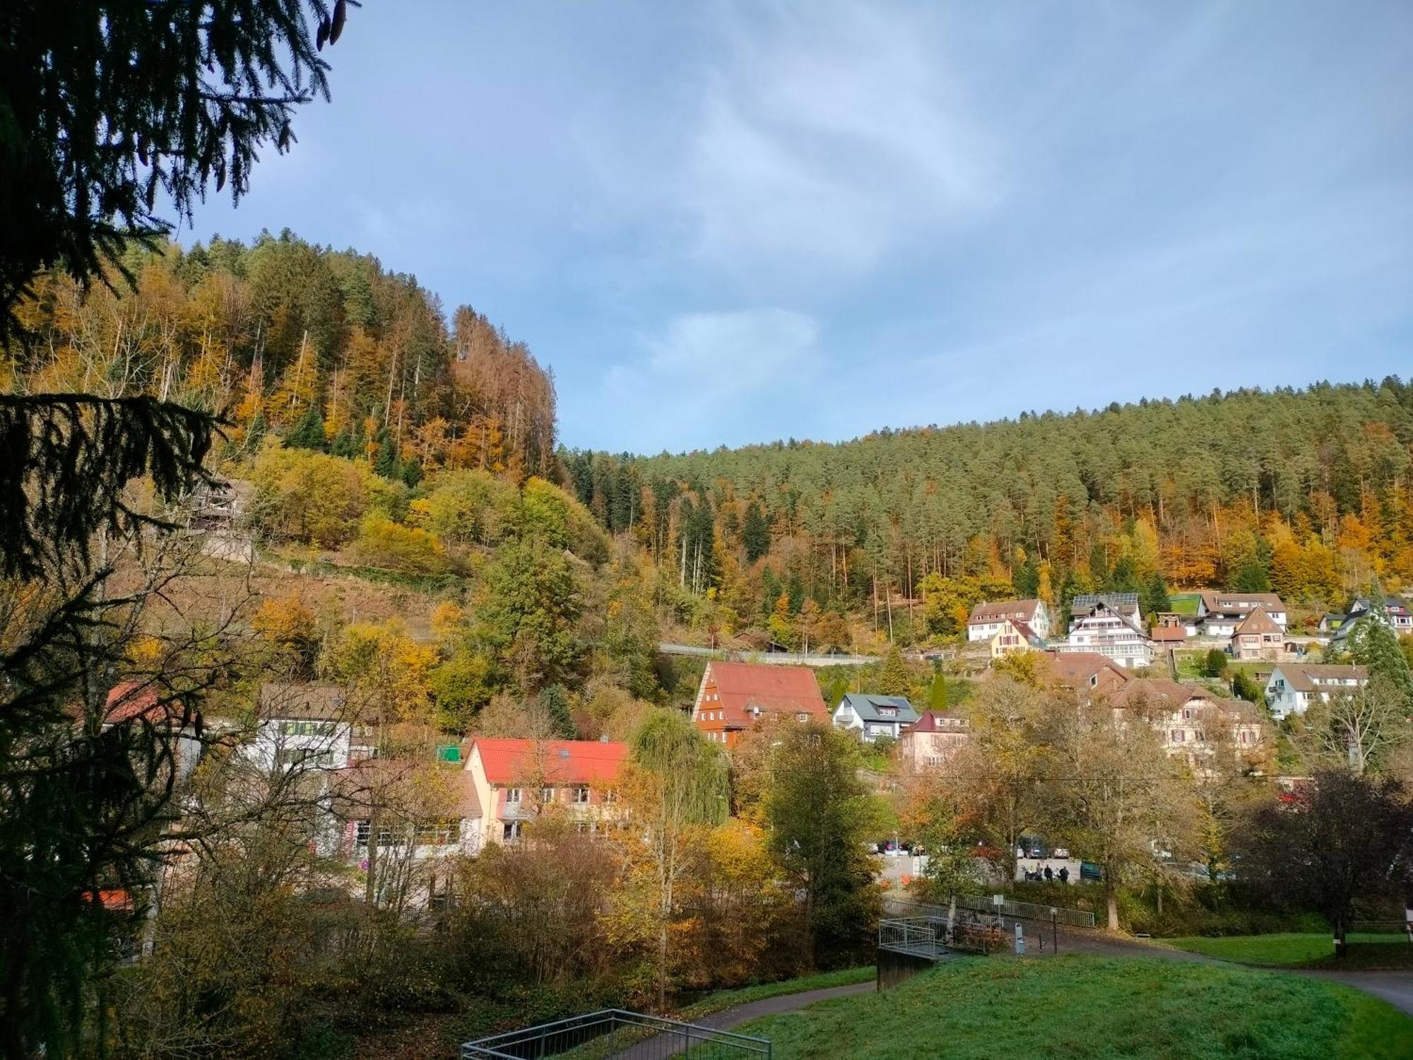
[[[1160,960],[964,958],[753,1020],[774,1060],[1392,1060],[1413,1019],[1324,979]]]

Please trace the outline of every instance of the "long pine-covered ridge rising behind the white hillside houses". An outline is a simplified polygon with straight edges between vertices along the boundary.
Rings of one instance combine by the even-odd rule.
[[[673,567],[716,620],[774,615],[773,630],[800,636],[808,601],[877,615],[914,599],[893,628],[921,639],[1005,592],[1160,602],[1167,588],[1270,587],[1318,608],[1375,574],[1407,585],[1410,442],[1413,387],[1386,379],[838,445],[562,459],[605,526]]]

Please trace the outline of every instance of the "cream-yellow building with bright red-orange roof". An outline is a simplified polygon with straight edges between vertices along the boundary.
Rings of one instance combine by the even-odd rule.
[[[627,743],[479,738],[466,756],[480,841],[514,842],[526,821],[564,813],[591,831],[609,814]]]

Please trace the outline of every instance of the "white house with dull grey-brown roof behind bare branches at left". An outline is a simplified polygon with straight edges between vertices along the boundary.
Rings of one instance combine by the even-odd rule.
[[[373,741],[342,685],[270,683],[244,753],[264,769],[346,769],[373,758]]]

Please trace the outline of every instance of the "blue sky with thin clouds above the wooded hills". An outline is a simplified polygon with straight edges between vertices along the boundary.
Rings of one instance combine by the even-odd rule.
[[[290,228],[678,452],[1413,370],[1413,6],[365,0]]]

